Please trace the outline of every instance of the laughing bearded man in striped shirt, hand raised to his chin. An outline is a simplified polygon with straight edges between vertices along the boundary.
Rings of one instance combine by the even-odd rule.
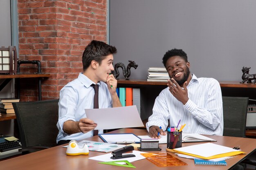
[[[223,110],[220,84],[213,78],[197,78],[190,74],[190,63],[182,49],[167,51],[163,64],[171,79],[155,99],[153,114],[146,128],[150,137],[166,135],[168,126],[186,124],[183,132],[206,135],[223,134]],[[159,127],[162,127],[160,129]],[[180,128],[177,127],[178,129]]]

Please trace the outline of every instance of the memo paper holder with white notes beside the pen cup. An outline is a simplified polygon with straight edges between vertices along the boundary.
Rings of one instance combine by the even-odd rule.
[[[153,150],[162,150],[159,148],[159,140],[158,139],[141,139],[140,147],[138,148],[140,151],[153,151]]]

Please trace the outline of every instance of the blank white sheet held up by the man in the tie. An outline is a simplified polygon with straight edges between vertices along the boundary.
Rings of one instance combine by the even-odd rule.
[[[125,106],[115,108],[85,109],[88,119],[93,120],[99,129],[143,127],[137,107]]]

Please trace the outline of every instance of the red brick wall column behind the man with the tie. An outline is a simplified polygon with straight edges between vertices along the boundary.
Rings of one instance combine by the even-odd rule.
[[[59,91],[83,71],[82,54],[91,40],[106,42],[106,0],[18,0],[19,59],[40,60],[42,100]],[[36,65],[22,64],[22,73]],[[20,79],[20,101],[38,99],[36,79]]]

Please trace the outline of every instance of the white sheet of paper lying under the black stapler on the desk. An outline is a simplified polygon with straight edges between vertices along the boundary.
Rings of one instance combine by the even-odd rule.
[[[141,151],[133,150],[132,154],[135,155],[135,157],[122,158],[122,159],[119,159],[119,160],[120,161],[126,160],[126,161],[129,161],[129,162],[133,162],[133,161],[138,161],[138,160],[141,160],[141,159],[145,159],[144,156],[140,155],[141,153],[146,153],[146,152],[141,152]],[[110,157],[112,157],[112,154],[111,153],[107,153],[107,154],[99,155],[99,156],[96,156],[96,157],[89,157],[89,159],[96,160],[96,161],[102,161],[102,162],[113,161],[113,159],[111,159]]]

